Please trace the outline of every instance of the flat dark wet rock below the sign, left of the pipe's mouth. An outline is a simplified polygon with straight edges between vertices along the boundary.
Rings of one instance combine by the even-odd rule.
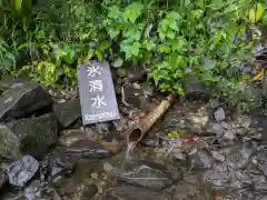
[[[101,159],[111,156],[112,152],[98,142],[91,140],[79,140],[67,147],[65,154],[85,159]]]

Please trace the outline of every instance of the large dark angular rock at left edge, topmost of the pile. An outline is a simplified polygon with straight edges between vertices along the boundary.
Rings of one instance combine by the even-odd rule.
[[[0,120],[20,119],[50,104],[49,93],[40,86],[13,82],[0,96]]]

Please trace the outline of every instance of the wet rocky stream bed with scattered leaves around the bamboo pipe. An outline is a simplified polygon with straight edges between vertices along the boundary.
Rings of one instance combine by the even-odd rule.
[[[146,81],[128,82],[121,94],[122,78],[116,82],[120,120],[83,127],[79,101],[66,98],[77,94],[61,91],[62,98],[50,91],[53,102],[60,102],[53,108],[59,133],[48,110],[0,127],[11,147],[0,146],[0,199],[267,199],[267,117],[261,110],[238,113],[217,99],[180,99],[152,126],[141,146],[129,151],[123,146],[126,133],[159,104],[162,94]],[[34,129],[22,129],[26,124]],[[44,124],[46,134],[32,142],[32,132],[39,136]],[[22,131],[27,137],[19,134],[21,156],[16,136]],[[49,153],[36,156],[44,150]]]

